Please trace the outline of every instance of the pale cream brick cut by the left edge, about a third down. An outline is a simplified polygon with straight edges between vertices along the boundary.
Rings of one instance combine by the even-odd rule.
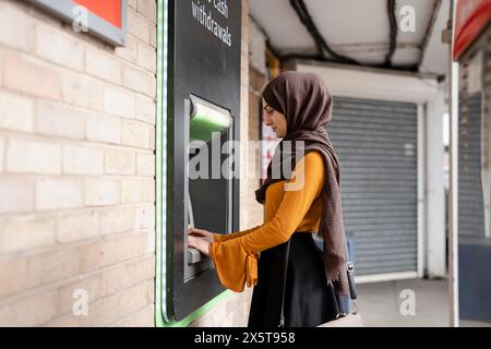
[[[0,91],[0,129],[33,131],[33,103],[19,95]]]

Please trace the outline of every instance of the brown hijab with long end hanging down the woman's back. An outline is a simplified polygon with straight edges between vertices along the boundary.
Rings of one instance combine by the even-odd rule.
[[[273,167],[288,161],[290,168],[300,160],[296,159],[295,144],[303,141],[303,154],[320,152],[324,158],[325,185],[323,212],[319,227],[319,236],[324,241],[324,267],[327,284],[337,292],[349,294],[346,273],[346,244],[340,200],[339,163],[336,152],[325,130],[332,120],[333,97],[315,74],[286,72],[272,80],[263,92],[265,101],[282,112],[287,120],[287,135],[278,144],[275,155],[267,168],[267,179],[255,192],[258,202],[264,203],[270,184],[288,179],[288,173],[279,170],[280,178],[273,179]],[[292,147],[286,151],[285,142],[290,141]]]

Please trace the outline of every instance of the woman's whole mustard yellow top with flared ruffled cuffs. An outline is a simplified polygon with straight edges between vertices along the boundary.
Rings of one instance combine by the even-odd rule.
[[[236,292],[241,292],[246,282],[248,287],[256,285],[260,252],[287,242],[295,231],[318,231],[324,180],[322,155],[311,152],[297,164],[291,179],[267,188],[263,225],[214,234],[209,256],[221,285]]]

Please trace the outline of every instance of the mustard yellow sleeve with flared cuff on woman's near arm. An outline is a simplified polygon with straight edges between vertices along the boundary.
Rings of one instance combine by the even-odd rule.
[[[309,153],[285,184],[288,186],[273,219],[240,237],[209,244],[218,278],[228,289],[241,292],[246,284],[248,287],[255,285],[259,252],[287,242],[301,224],[324,188],[322,156]]]

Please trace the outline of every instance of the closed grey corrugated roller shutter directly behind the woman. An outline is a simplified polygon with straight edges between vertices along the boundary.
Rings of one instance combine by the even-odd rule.
[[[327,131],[357,275],[416,272],[417,106],[335,97]]]

